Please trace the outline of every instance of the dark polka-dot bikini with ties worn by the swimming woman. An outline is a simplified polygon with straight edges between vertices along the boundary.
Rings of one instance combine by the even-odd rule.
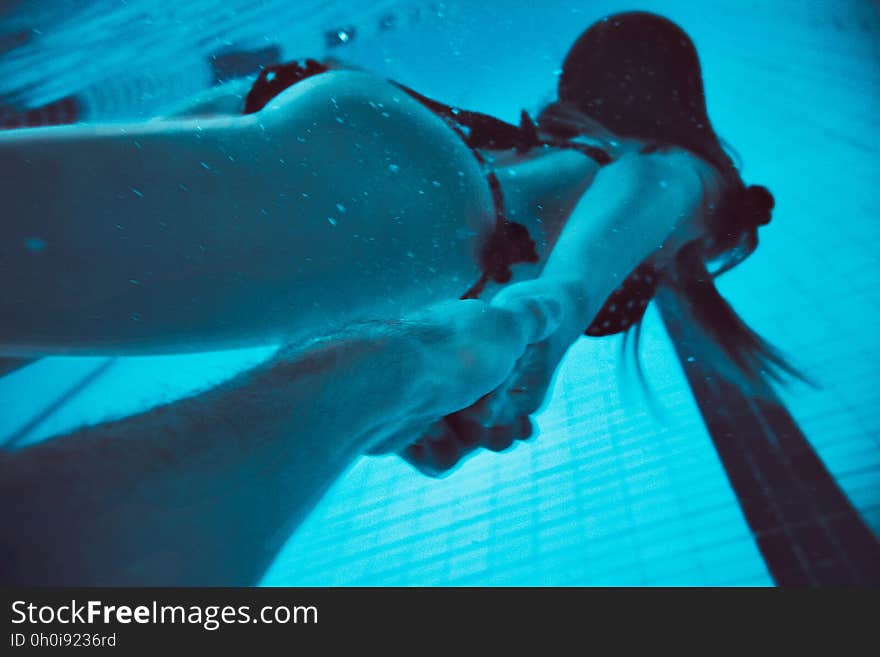
[[[304,64],[290,62],[266,67],[251,87],[245,99],[243,113],[257,112],[288,87],[329,70],[329,66],[313,59],[307,59]],[[461,295],[462,299],[479,297],[490,280],[496,283],[508,282],[513,275],[510,269],[512,265],[537,262],[539,259],[528,229],[507,218],[501,183],[489,166],[483,150],[516,150],[518,153],[525,153],[532,148],[551,146],[577,150],[600,166],[613,161],[611,155],[602,148],[571,139],[542,138],[537,126],[525,111],[520,114],[520,124],[515,126],[487,114],[444,105],[402,84],[393,81],[392,84],[440,116],[467,144],[486,171],[495,205],[495,228],[480,248],[479,263],[483,273]],[[640,265],[611,294],[584,333],[589,336],[603,336],[626,331],[644,315],[648,302],[654,296],[658,278],[653,267],[648,264]]]

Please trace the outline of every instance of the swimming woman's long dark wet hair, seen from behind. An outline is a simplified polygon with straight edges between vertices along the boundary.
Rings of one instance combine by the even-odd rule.
[[[680,249],[663,282],[683,296],[694,319],[750,379],[766,374],[806,381],[715,287],[716,276],[755,250],[758,227],[770,221],[774,200],[765,187],[746,186],[715,133],[690,37],[646,12],[600,20],[569,50],[558,96],[540,115],[542,131],[571,138],[604,129],[644,142],[645,151],[684,148],[718,171],[720,195],[703,208],[708,233]],[[634,330],[637,350],[640,326]]]

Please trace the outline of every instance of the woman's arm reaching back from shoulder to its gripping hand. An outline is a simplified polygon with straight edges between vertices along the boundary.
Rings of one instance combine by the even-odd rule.
[[[711,175],[708,165],[684,151],[633,152],[601,169],[541,274],[502,289],[491,301],[507,305],[533,298],[557,304],[564,309],[559,330],[531,345],[504,384],[444,418],[430,438],[401,455],[425,474],[438,475],[477,447],[500,451],[528,437],[528,416],[544,403],[565,352],[613,290],[641,262],[662,262],[696,236],[703,180]],[[448,445],[453,449],[438,449]]]

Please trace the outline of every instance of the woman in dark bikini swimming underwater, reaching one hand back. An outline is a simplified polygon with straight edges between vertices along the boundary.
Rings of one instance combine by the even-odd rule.
[[[687,35],[599,21],[558,92],[515,127],[310,62],[265,70],[237,114],[0,134],[0,353],[283,343],[449,299],[558,302],[560,328],[500,389],[407,449],[426,472],[527,434],[577,336],[637,326],[659,285],[746,374],[790,371],[713,284],[773,200],[725,154]]]

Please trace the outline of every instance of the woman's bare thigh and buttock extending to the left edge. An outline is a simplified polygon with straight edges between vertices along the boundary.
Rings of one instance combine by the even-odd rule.
[[[492,201],[434,114],[364,73],[245,117],[0,134],[0,354],[283,341],[457,298]]]

